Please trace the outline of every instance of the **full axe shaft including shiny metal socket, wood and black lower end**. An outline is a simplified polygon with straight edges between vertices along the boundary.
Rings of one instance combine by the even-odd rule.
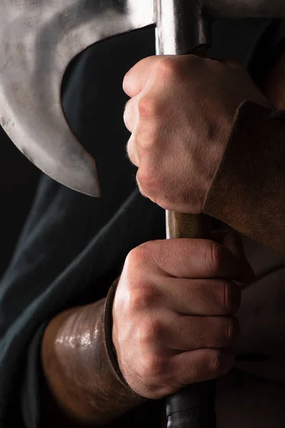
[[[206,56],[207,28],[193,1],[157,1],[156,54],[186,54],[187,46],[201,46],[192,54]],[[190,10],[191,8],[191,10]],[[198,11],[198,14],[193,12]],[[189,16],[193,26],[190,26]],[[192,30],[189,30],[192,29]],[[187,34],[187,37],[185,37]],[[189,38],[190,43],[189,44]],[[166,212],[167,238],[210,238],[211,220],[204,215]],[[167,428],[214,428],[214,382],[190,384],[166,399]]]

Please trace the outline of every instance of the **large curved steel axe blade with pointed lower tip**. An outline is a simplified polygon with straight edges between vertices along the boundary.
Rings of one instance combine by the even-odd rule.
[[[68,126],[63,74],[88,46],[154,24],[153,0],[0,2],[0,123],[54,180],[100,196],[95,161]]]

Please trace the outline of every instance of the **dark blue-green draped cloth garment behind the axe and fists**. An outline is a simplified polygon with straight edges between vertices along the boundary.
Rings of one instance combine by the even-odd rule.
[[[264,69],[285,40],[284,26],[272,22],[214,24],[210,54],[237,58],[258,76],[260,64]],[[122,119],[127,101],[123,76],[140,58],[154,54],[153,40],[153,31],[147,29],[93,46],[68,71],[66,115],[96,158],[103,198],[95,200],[41,179],[0,284],[0,428],[38,427],[39,348],[48,321],[68,307],[104,297],[132,248],[165,238],[164,211],[135,188]],[[260,62],[264,51],[253,61],[264,40],[270,41],[266,61]]]

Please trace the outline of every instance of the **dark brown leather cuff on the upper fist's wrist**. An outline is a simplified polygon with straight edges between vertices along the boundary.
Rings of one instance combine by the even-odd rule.
[[[246,101],[239,106],[203,213],[285,253],[285,118]]]

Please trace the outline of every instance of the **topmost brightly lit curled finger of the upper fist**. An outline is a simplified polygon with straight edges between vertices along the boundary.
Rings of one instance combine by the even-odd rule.
[[[145,88],[150,76],[150,69],[155,61],[157,61],[156,56],[149,56],[136,63],[128,71],[123,81],[123,90],[128,96],[136,96]]]

